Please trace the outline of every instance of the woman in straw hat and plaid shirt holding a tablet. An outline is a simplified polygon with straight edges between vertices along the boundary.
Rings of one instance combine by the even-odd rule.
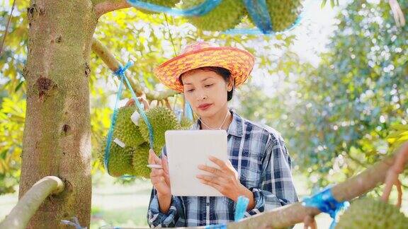
[[[246,81],[253,66],[254,57],[245,50],[196,42],[155,69],[162,83],[184,93],[198,115],[192,129],[227,131],[229,161],[210,158],[214,165],[199,169],[212,175],[197,176],[224,196],[171,196],[166,148],[161,158],[151,150],[149,163],[163,169],[153,168],[150,174],[154,186],[147,216],[150,226],[234,221],[234,202],[242,195],[249,199],[245,216],[297,201],[290,156],[280,134],[240,117],[227,105],[234,87]]]

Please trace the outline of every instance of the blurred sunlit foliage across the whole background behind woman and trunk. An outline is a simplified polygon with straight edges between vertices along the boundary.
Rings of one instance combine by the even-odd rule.
[[[11,4],[3,1],[0,6],[3,18],[8,18]],[[400,5],[408,8],[407,1]],[[4,187],[0,194],[13,192],[21,163],[27,7],[28,1],[16,2],[0,57],[0,187]],[[152,90],[164,89],[152,75],[154,67],[189,42],[208,40],[248,49],[257,57],[254,78],[237,90],[234,105],[244,117],[278,129],[295,169],[319,187],[356,174],[407,140],[407,25],[395,26],[386,1],[351,1],[337,19],[337,30],[317,68],[290,49],[295,40],[291,33],[273,37],[210,33],[197,30],[185,18],[145,14],[135,8],[102,16],[95,37],[123,64],[132,60],[130,76]],[[246,20],[240,26],[249,24]],[[5,25],[2,20],[0,29]],[[91,73],[95,155],[110,125],[118,81],[95,54]],[[123,98],[130,98],[130,93],[126,91]],[[92,163],[93,172],[103,170],[98,160]]]

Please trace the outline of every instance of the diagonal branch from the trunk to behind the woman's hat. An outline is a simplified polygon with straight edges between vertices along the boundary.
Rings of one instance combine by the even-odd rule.
[[[113,56],[113,54],[111,54],[111,52],[109,52],[109,50],[96,38],[92,41],[92,51],[94,51],[98,57],[101,57],[111,71],[118,70],[120,62],[116,60],[115,56]],[[126,73],[126,75],[128,76],[128,73]],[[135,93],[137,95],[145,94],[147,100],[164,100],[178,93],[175,90],[164,90],[162,92],[149,90],[148,88],[143,87],[134,77],[128,76],[128,80],[130,81],[133,90],[135,90]]]

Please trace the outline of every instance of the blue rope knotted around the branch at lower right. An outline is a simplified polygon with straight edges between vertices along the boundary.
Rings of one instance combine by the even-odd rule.
[[[306,197],[302,201],[303,206],[317,208],[324,213],[328,213],[333,221],[331,222],[330,229],[336,226],[337,213],[346,209],[350,203],[348,201],[339,202],[334,199],[331,193],[331,187],[323,189],[321,192],[314,194],[312,197]]]

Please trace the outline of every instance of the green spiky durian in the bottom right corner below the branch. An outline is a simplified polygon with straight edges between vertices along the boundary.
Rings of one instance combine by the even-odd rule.
[[[408,218],[391,204],[379,199],[362,198],[354,201],[339,218],[336,229],[408,228]]]

